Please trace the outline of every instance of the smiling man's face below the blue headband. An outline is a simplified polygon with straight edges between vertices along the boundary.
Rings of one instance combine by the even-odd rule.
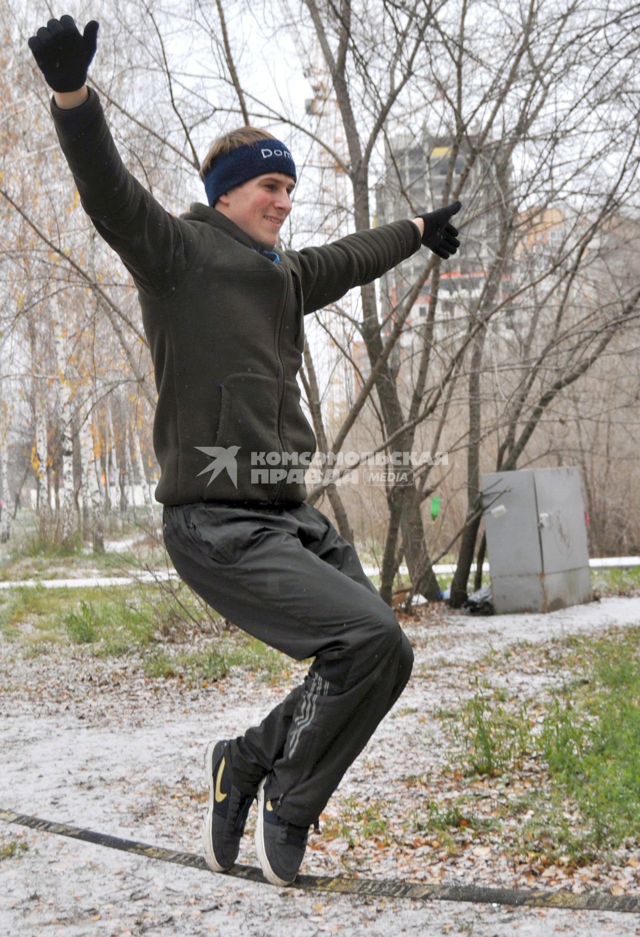
[[[275,247],[280,228],[291,210],[292,176],[268,172],[230,188],[216,201],[216,209],[265,247]]]

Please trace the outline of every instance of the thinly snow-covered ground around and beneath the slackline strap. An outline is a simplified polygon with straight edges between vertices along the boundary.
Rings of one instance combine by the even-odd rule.
[[[409,622],[407,632],[416,647],[414,677],[340,785],[331,807],[335,816],[350,796],[387,798],[392,814],[415,806],[411,798],[424,796],[405,790],[398,778],[427,772],[445,757],[439,722],[429,715],[459,700],[469,662],[523,641],[638,623],[637,598],[606,599],[549,615],[451,615],[438,622]],[[303,673],[293,665],[287,685],[269,686],[242,675],[189,690],[176,680],[148,680],[127,659],[105,662],[54,653],[24,659],[7,644],[0,645],[0,653],[0,807],[186,852],[200,852],[206,742],[237,735],[259,721]],[[523,692],[545,678],[515,669],[504,676],[504,669],[502,660],[500,678],[513,688],[522,686]],[[253,822],[252,817],[251,829]],[[0,844],[12,840],[27,848],[0,863],[0,933],[21,937],[52,932],[69,937],[307,937],[341,931],[380,937],[600,937],[640,930],[636,915],[362,900],[276,889],[0,823]],[[340,857],[346,848],[339,838],[320,847],[312,835],[303,870],[344,873]],[[438,871],[433,857],[426,862],[419,853],[393,845],[372,850],[359,873],[522,886],[499,856]],[[240,861],[257,864],[249,835]],[[625,888],[635,892],[640,882],[629,877],[632,873]],[[603,876],[602,890],[610,885]]]

